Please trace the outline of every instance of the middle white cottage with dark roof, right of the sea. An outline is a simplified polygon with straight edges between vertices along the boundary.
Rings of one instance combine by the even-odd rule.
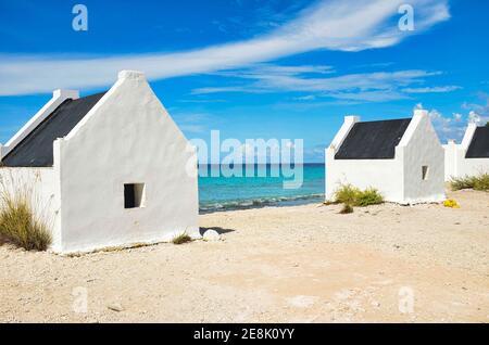
[[[376,188],[388,202],[415,204],[444,200],[443,148],[428,113],[413,118],[344,123],[326,149],[326,200],[341,184]]]

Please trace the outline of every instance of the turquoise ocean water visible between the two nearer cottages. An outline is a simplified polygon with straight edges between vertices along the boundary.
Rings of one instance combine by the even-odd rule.
[[[299,166],[293,167],[299,169]],[[241,209],[264,206],[285,206],[304,203],[315,203],[324,200],[325,168],[324,164],[302,165],[302,186],[298,189],[285,189],[285,177],[280,170],[279,177],[272,177],[272,166],[261,166],[266,177],[258,177],[259,166],[254,166],[254,177],[225,177],[218,165],[201,166],[205,171],[199,176],[199,205],[201,213]],[[241,170],[244,171],[242,166]],[[217,176],[212,177],[211,173]]]

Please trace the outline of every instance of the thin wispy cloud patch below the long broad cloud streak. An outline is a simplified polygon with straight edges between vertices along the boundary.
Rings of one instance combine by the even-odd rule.
[[[298,100],[333,98],[349,101],[381,102],[408,99],[406,87],[418,86],[440,72],[408,69],[329,76],[330,66],[250,66],[244,69],[220,72],[235,78],[235,85],[192,90],[193,94],[222,92],[305,92]],[[244,82],[242,82],[244,80]],[[229,85],[230,82],[226,82]],[[408,90],[418,90],[409,88]]]

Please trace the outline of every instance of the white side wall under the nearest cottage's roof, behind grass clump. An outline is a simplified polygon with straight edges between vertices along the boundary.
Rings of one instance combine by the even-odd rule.
[[[33,210],[50,228],[52,247],[60,243],[60,195],[57,171],[53,168],[0,168],[0,190],[27,193]]]

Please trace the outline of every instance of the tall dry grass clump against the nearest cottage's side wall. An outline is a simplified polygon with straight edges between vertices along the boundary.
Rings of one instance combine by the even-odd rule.
[[[3,189],[0,195],[0,235],[27,251],[46,251],[51,244],[48,225],[33,210],[29,193]]]

